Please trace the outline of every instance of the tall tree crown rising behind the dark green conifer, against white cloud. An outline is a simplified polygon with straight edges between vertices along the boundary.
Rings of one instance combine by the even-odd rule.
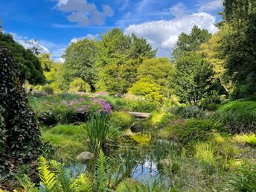
[[[196,25],[191,29],[190,34],[181,33],[179,39],[176,42],[176,46],[173,48],[173,58],[177,60],[178,57],[183,56],[186,52],[199,51],[202,43],[208,42],[211,38],[211,33],[205,29],[200,29]]]

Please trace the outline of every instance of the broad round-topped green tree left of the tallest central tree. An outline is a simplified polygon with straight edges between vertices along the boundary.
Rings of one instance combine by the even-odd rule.
[[[97,42],[83,39],[72,42],[65,50],[63,77],[68,85],[74,78],[81,78],[94,89],[97,79]]]

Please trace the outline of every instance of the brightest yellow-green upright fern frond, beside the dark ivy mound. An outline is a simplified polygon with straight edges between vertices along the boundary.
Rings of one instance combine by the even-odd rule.
[[[41,179],[40,185],[42,186],[42,191],[52,192],[56,191],[57,177],[54,173],[49,170],[50,167],[45,158],[39,157],[39,177]]]

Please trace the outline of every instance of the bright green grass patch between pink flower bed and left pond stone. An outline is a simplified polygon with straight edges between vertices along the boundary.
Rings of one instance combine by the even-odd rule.
[[[52,159],[74,161],[76,156],[86,150],[86,135],[80,126],[57,125],[51,129],[42,128],[42,138],[54,148]]]

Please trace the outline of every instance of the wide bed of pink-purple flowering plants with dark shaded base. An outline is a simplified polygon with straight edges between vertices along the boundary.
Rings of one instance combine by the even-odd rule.
[[[110,104],[105,100],[82,96],[31,97],[30,103],[37,118],[50,125],[84,122],[96,111],[112,113]]]

